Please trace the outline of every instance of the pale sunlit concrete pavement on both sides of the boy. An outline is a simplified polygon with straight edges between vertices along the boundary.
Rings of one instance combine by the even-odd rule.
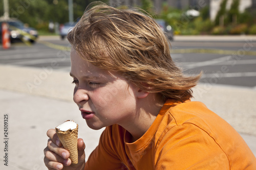
[[[211,37],[177,38],[209,40]],[[242,41],[238,36],[223,37],[228,39]],[[47,169],[43,162],[46,132],[67,119],[79,125],[78,137],[86,143],[88,158],[102,130],[91,130],[81,118],[72,101],[73,85],[68,71],[0,64],[0,78],[0,169]],[[193,101],[203,102],[223,117],[256,155],[255,88],[199,84],[194,94]]]

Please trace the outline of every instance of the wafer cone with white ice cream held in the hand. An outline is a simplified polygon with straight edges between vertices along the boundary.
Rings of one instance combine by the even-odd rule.
[[[63,148],[69,151],[70,153],[70,159],[72,161],[73,165],[76,165],[78,163],[78,150],[77,150],[77,134],[78,134],[78,125],[73,124],[73,120],[70,122],[73,122],[73,127],[67,127],[67,125],[70,120],[67,120],[63,124],[56,127],[56,133],[59,137],[60,142],[63,145]],[[66,124],[65,124],[66,123]],[[63,128],[62,125],[65,124],[65,128]],[[62,127],[61,127],[62,126]]]

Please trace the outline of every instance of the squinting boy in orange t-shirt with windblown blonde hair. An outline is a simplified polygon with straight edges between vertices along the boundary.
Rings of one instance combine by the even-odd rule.
[[[89,8],[69,33],[74,102],[98,147],[72,167],[55,130],[45,149],[49,169],[256,169],[241,136],[200,102],[170,58],[154,19],[104,4]]]

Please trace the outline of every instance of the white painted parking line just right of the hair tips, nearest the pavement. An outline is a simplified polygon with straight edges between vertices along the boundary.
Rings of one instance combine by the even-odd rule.
[[[226,72],[203,74],[202,78],[256,77],[256,72]]]

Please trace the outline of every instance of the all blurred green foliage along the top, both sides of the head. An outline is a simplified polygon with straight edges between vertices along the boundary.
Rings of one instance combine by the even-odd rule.
[[[73,0],[74,20],[79,18],[88,4],[93,0]],[[108,0],[102,0],[108,3]],[[186,16],[185,10],[169,7],[163,3],[160,14],[154,13],[152,0],[141,0],[140,8],[150,13],[154,18],[162,18],[173,27],[175,34],[256,34],[256,10],[247,9],[240,13],[239,3],[233,0],[229,10],[226,10],[227,0],[223,0],[217,17],[209,19],[209,7],[200,9],[200,16]],[[128,8],[122,6],[122,8]],[[48,32],[49,22],[59,24],[69,21],[68,0],[9,0],[10,17],[18,18],[30,27]],[[0,16],[3,15],[3,3],[0,3]]]

